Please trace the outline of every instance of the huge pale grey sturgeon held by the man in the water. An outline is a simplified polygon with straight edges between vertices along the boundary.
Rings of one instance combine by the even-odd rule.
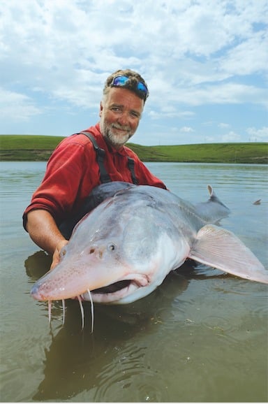
[[[253,252],[214,224],[230,211],[211,187],[209,201],[194,206],[165,189],[127,185],[117,192],[113,184],[113,196],[80,220],[59,264],[34,284],[34,298],[89,300],[89,290],[94,302],[131,303],[154,291],[187,258],[268,283],[268,271]],[[101,193],[105,185],[100,187]],[[100,290],[116,282],[126,285]]]

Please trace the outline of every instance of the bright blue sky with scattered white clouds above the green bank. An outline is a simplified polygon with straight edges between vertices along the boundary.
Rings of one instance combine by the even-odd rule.
[[[268,141],[268,0],[0,0],[0,134],[98,122],[108,75],[149,98],[131,142]]]

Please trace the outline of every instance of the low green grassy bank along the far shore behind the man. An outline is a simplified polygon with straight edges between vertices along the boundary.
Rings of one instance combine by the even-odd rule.
[[[0,135],[1,161],[46,161],[61,136]],[[128,143],[142,161],[267,164],[268,143],[142,146]]]

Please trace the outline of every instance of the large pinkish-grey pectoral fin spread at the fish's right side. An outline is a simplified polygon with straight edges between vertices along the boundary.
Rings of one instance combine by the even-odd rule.
[[[224,272],[268,283],[268,270],[231,231],[213,224],[203,226],[188,256]]]

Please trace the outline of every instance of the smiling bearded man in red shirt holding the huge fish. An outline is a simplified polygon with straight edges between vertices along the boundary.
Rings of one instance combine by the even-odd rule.
[[[34,243],[53,254],[51,268],[57,265],[59,252],[68,243],[59,230],[60,224],[81,209],[92,189],[101,184],[103,175],[109,181],[166,189],[124,146],[135,134],[148,95],[147,85],[138,73],[129,69],[116,71],[105,82],[100,122],[84,133],[65,138],[52,153],[45,177],[23,215],[24,229]],[[98,161],[100,148],[104,150],[102,163]],[[134,164],[131,166],[129,161]]]

